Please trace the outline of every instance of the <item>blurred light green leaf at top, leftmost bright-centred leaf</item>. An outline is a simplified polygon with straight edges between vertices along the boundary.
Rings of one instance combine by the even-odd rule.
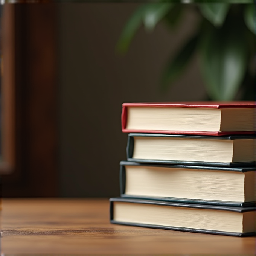
[[[169,12],[171,7],[172,3],[149,3],[143,18],[145,29],[152,31],[155,25]]]

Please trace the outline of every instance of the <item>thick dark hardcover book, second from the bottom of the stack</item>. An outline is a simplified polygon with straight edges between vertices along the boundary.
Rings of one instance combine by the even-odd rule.
[[[180,203],[255,206],[256,168],[120,162],[120,194]]]

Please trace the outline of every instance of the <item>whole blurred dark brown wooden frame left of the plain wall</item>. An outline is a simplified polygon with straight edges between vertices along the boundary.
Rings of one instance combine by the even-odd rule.
[[[54,3],[3,6],[3,197],[58,195],[56,24]]]

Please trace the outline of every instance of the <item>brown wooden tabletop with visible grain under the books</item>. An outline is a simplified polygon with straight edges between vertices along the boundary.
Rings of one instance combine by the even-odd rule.
[[[109,223],[107,199],[4,199],[2,252],[90,255],[254,255],[255,238]]]

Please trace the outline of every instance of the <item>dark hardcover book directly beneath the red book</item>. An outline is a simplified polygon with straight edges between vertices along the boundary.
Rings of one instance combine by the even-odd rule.
[[[141,163],[255,166],[255,136],[128,134],[127,159]]]

